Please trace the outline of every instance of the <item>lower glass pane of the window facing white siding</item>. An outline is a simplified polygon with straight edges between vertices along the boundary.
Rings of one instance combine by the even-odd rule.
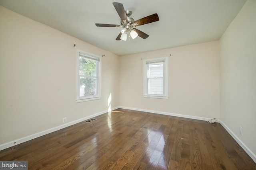
[[[148,94],[164,94],[163,78],[148,78]]]

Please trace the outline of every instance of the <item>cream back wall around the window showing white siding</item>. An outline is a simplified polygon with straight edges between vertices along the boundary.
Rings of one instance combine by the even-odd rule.
[[[169,99],[143,97],[143,60],[158,57],[169,57]],[[219,41],[122,56],[119,105],[219,118],[219,57]]]

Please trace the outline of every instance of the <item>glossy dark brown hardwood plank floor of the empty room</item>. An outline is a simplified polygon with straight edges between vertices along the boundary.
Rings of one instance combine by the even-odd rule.
[[[254,170],[220,123],[116,109],[0,151],[28,170]]]

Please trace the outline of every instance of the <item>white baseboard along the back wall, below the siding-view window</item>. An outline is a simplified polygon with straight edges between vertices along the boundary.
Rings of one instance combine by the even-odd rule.
[[[163,112],[163,111],[154,111],[154,110],[147,110],[147,109],[137,109],[137,108],[132,108],[132,107],[123,107],[119,106],[121,109],[129,109],[129,110],[136,110],[136,111],[144,111],[144,112],[149,112],[149,113],[156,113],[156,114],[161,114],[161,115],[169,115],[169,116],[176,116],[176,117],[184,117],[184,118],[189,118],[189,119],[196,119],[196,120],[204,120],[208,121],[210,118],[207,117],[199,117],[199,116],[191,116],[191,115],[182,115],[182,114],[176,114],[176,113],[168,113],[168,112]],[[220,122],[218,119],[216,122]]]

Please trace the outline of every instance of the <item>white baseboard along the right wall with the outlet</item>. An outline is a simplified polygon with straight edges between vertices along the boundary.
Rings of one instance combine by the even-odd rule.
[[[244,151],[252,158],[256,163],[256,155],[223,123],[220,121],[220,124],[228,131],[228,133],[235,139],[235,141],[244,149]]]

